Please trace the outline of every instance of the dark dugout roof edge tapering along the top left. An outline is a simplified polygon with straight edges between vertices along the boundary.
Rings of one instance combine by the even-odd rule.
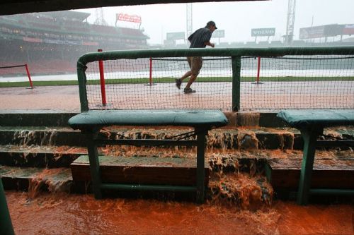
[[[230,1],[230,0],[224,0]],[[266,0],[234,0],[234,1],[266,1]],[[0,16],[45,12],[63,11],[81,8],[95,8],[103,6],[132,6],[143,4],[172,4],[188,3],[183,0],[1,0]],[[193,0],[193,2],[207,2],[207,0]]]

